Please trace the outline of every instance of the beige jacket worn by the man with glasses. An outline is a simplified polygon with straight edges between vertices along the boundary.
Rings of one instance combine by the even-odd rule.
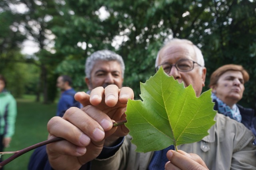
[[[216,124],[201,141],[178,146],[179,150],[198,154],[210,170],[256,170],[254,135],[243,124],[216,114]],[[154,152],[135,152],[136,146],[126,136],[116,154],[92,161],[92,170],[147,170]]]

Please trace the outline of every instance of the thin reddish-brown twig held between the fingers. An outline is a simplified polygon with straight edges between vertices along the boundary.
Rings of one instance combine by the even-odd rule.
[[[126,120],[120,120],[120,121],[116,121],[116,122],[113,122],[113,126],[116,127],[116,126],[120,126],[124,123],[126,123],[127,121]],[[10,156],[9,158],[7,158],[6,160],[0,162],[0,168],[2,168],[3,166],[5,166],[6,164],[8,164],[9,162],[11,162],[12,160],[18,158],[19,156],[25,154],[26,152],[29,152],[30,150],[33,150],[33,149],[36,149],[40,146],[44,146],[46,144],[50,144],[52,142],[58,142],[58,141],[61,141],[61,140],[65,140],[64,138],[60,138],[60,137],[56,137],[56,138],[52,138],[52,139],[49,139],[49,140],[45,140],[43,142],[40,142],[38,144],[34,144],[32,146],[29,146],[27,148],[24,148],[22,150],[18,150],[18,151],[14,151],[14,152],[0,152],[0,154],[12,154],[14,153],[12,156]]]

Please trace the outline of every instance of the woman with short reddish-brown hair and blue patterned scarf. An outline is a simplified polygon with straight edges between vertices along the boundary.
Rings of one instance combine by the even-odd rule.
[[[243,97],[244,83],[248,82],[249,78],[248,72],[242,66],[226,64],[212,73],[209,87],[212,88],[214,110],[241,122],[256,136],[254,109],[237,104]]]

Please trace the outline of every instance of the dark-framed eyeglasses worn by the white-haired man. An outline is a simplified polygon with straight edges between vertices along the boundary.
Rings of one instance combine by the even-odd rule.
[[[159,68],[162,66],[164,69],[164,72],[166,72],[166,74],[169,74],[172,69],[172,66],[175,66],[177,70],[180,72],[189,72],[194,69],[195,63],[198,64],[193,60],[182,59],[176,62],[175,64],[169,64],[169,63],[160,64],[159,66],[156,67],[156,71],[158,71]],[[198,66],[202,67],[200,64],[198,64]]]

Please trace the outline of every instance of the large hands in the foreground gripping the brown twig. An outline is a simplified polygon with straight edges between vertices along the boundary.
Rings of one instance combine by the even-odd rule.
[[[77,93],[76,100],[85,107],[70,108],[63,118],[54,117],[48,122],[49,139],[56,136],[66,139],[46,147],[52,168],[79,169],[97,158],[103,146],[112,146],[127,135],[124,125],[112,127],[112,122],[125,119],[126,103],[133,97],[132,89],[119,90],[115,85],[98,87],[90,96]]]

